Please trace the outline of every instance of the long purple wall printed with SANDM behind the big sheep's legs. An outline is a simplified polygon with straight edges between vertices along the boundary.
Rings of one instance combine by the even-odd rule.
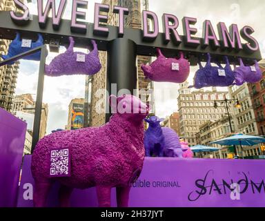
[[[32,206],[34,181],[31,156],[23,164],[18,206]],[[130,191],[131,207],[264,207],[264,160],[148,158]],[[59,185],[52,187],[48,206],[58,206]],[[112,189],[112,206],[117,206]],[[97,206],[94,188],[75,189],[71,206]]]

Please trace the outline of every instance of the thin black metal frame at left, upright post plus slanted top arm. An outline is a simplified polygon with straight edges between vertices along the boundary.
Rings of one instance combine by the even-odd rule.
[[[37,86],[37,98],[35,103],[35,117],[34,117],[34,124],[33,124],[33,133],[32,133],[32,148],[31,153],[33,153],[34,148],[39,141],[39,131],[41,126],[41,109],[42,109],[42,97],[43,97],[43,86],[44,86],[44,68],[47,56],[47,49],[46,45],[39,46],[32,50],[28,50],[27,52],[23,52],[19,55],[11,57],[10,59],[6,59],[0,62],[0,66],[6,65],[12,61],[17,61],[26,57],[28,55],[32,55],[38,51],[41,51],[41,60],[39,64],[39,78],[38,78],[38,86]]]

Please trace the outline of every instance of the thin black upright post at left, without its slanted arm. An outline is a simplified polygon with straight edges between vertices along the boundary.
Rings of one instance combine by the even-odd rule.
[[[31,153],[33,153],[37,142],[39,141],[39,131],[41,126],[41,109],[42,109],[42,97],[43,97],[43,86],[44,86],[44,68],[46,62],[46,46],[41,48],[41,61],[39,63],[39,78],[37,87],[37,98],[35,103],[35,117],[33,124],[33,134],[32,134],[32,147]]]

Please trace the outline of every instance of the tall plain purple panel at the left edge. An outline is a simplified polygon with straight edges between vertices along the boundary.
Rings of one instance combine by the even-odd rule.
[[[0,108],[0,207],[16,206],[27,124]]]

